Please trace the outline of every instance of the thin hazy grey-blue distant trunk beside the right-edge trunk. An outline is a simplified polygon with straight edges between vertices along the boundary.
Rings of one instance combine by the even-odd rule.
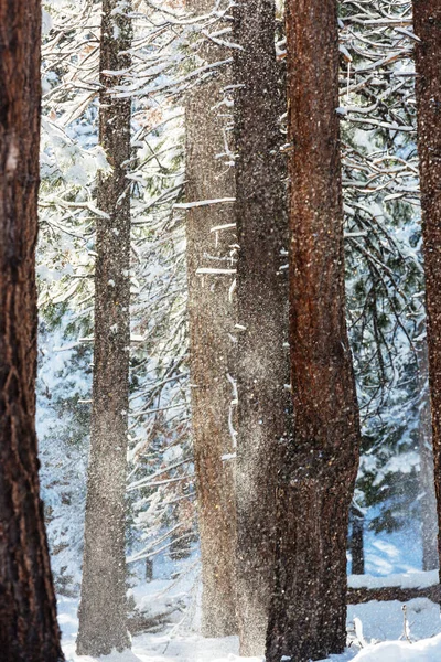
[[[420,450],[422,569],[435,570],[439,567],[437,542],[438,519],[433,476],[432,415],[430,409],[429,393],[429,355],[426,339],[418,343],[417,359],[421,397],[418,437]]]

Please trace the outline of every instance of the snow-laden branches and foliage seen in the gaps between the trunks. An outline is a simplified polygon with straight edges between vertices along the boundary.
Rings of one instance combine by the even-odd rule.
[[[388,556],[386,552],[387,536],[378,537],[386,553],[375,556],[373,534],[404,532],[402,538],[390,537],[397,549],[401,541],[409,541],[409,532],[410,541],[421,540],[421,496],[427,490],[421,489],[421,473],[427,469],[420,449],[428,434],[421,424],[427,407],[421,384],[427,382],[427,369],[412,38],[410,30],[394,29],[394,22],[410,22],[409,3],[395,9],[387,29],[373,25],[383,15],[375,4],[364,3],[363,13],[354,3],[342,3],[342,15],[347,18],[341,34],[341,113],[347,314],[363,423],[356,504],[366,520],[365,535],[374,545],[367,569],[388,574],[422,564],[422,544],[410,544],[394,560],[396,553]],[[139,36],[132,50],[138,67],[147,64],[142,77],[133,72],[125,88],[136,108],[130,173],[128,535],[133,563],[129,567],[133,573],[141,567],[142,574],[144,563],[136,558],[147,556],[147,543],[159,531],[162,543],[158,547],[179,547],[176,538],[183,537],[182,546],[190,551],[195,535],[185,203],[180,204],[185,178],[182,90],[197,86],[201,76],[197,70],[186,71],[194,57],[189,54],[189,42],[193,36],[196,50],[198,34],[218,19],[207,17],[205,23],[184,19],[183,8],[172,6],[170,11],[178,12],[173,20],[152,8],[139,9],[143,11],[135,13]],[[92,30],[98,29],[98,3],[45,4],[37,416],[54,572],[58,586],[69,590],[79,586],[92,386],[96,177],[106,168],[97,145],[99,42]],[[179,36],[170,40],[169,32],[175,31]],[[162,33],[159,44],[157,33]],[[366,41],[365,33],[378,36],[376,47],[368,49],[362,41]],[[282,53],[282,39],[279,47]],[[209,70],[203,75],[208,76]],[[378,100],[380,93],[384,98]],[[228,99],[218,103],[228,109]],[[204,131],[203,118],[198,131]],[[228,158],[226,151],[224,159]],[[216,232],[214,249],[215,241]],[[228,287],[232,282],[229,277]],[[233,388],[230,399],[234,407]],[[161,484],[153,490],[152,481]],[[180,526],[166,535],[175,525]],[[152,558],[161,564],[162,554]]]

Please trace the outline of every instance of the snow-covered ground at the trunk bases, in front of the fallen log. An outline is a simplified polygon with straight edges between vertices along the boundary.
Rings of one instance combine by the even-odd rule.
[[[63,648],[68,662],[95,662],[75,654],[77,600],[61,597],[58,618]],[[441,660],[440,608],[426,598],[407,602],[407,626],[402,605],[368,602],[348,607],[348,648],[332,662],[439,662]],[[405,632],[405,629],[407,632]],[[407,641],[406,638],[410,640]],[[176,630],[175,626],[155,634],[133,637],[132,650],[100,658],[103,662],[261,662],[239,658],[238,640],[205,639]]]

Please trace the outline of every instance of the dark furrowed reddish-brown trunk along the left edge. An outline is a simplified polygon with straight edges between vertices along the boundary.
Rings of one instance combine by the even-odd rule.
[[[35,435],[39,0],[0,0],[0,659],[63,660]]]

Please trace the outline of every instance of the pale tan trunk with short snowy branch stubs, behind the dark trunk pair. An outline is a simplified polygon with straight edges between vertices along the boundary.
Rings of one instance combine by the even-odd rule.
[[[213,2],[191,0],[187,8],[196,14],[208,13]],[[204,44],[198,54],[207,62],[225,56],[213,42]],[[224,136],[232,121],[227,107],[217,105],[230,78],[230,70],[223,68],[189,94],[185,107],[189,203],[234,197],[234,170],[218,157],[225,152]],[[232,223],[232,202],[192,207],[186,217],[190,378],[202,553],[202,631],[206,637],[237,632],[234,460],[223,460],[234,451],[229,413],[235,306],[229,297],[233,275],[197,270],[234,268],[230,260],[225,260],[235,243],[234,229],[212,232]]]

